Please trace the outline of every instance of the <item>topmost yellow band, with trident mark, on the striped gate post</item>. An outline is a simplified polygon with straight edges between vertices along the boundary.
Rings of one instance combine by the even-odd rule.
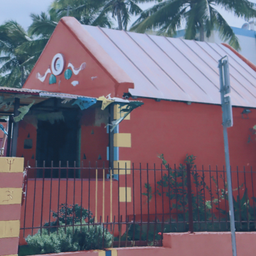
[[[23,157],[0,157],[0,172],[23,172]]]

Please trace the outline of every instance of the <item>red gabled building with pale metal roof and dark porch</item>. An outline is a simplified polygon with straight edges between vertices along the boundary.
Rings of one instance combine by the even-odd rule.
[[[234,126],[228,129],[230,163],[256,168],[255,135],[250,130],[256,124],[256,67],[250,61],[228,45],[83,26],[71,17],[60,20],[24,88],[1,88],[12,97],[27,95],[15,100],[16,109],[35,100],[19,122],[19,136],[18,123],[13,125],[12,155],[24,157],[31,166],[37,160],[40,167],[43,161],[45,167],[51,161],[53,166],[59,161],[65,166],[68,161],[70,167],[74,161],[76,166],[90,161],[93,167],[95,161],[99,166],[104,162],[106,168],[118,164],[125,168],[126,164],[127,180],[124,170],[120,177],[115,172],[114,178],[121,187],[127,182],[127,188],[132,182],[132,163],[136,168],[140,163],[142,168],[147,163],[154,168],[154,163],[161,164],[159,154],[171,165],[193,154],[198,166],[222,168],[218,60],[226,55],[234,118]],[[107,95],[108,99],[100,98]],[[119,107],[132,106],[131,102],[143,105],[109,132],[106,125],[124,115]],[[244,109],[251,112],[244,115]],[[13,107],[9,113],[12,111]],[[107,174],[101,170],[97,175],[105,178]],[[29,175],[33,182],[35,175]],[[105,189],[110,189],[109,184]],[[132,204],[131,189],[127,194],[126,200]],[[100,198],[102,195],[104,192]],[[104,205],[110,199],[100,199],[100,204],[101,200]],[[96,205],[97,200],[93,211]],[[128,215],[132,214],[129,207]],[[99,215],[104,212],[101,206],[98,211]],[[124,208],[122,211],[125,214]]]

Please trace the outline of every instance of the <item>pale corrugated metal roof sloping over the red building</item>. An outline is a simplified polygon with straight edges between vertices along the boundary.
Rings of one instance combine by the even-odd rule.
[[[131,95],[220,104],[218,60],[229,60],[232,104],[256,108],[256,72],[220,44],[83,26],[134,81]]]

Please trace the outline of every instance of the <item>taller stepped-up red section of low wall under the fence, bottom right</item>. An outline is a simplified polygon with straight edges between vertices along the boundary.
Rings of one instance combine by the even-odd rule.
[[[256,255],[255,241],[256,232],[236,232],[237,255]],[[173,256],[232,256],[230,232],[164,234],[163,246]]]

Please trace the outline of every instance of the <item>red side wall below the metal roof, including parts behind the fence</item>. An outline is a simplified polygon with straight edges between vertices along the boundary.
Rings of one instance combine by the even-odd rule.
[[[138,99],[144,102],[141,108],[137,108],[131,113],[131,120],[124,120],[119,127],[120,133],[131,133],[131,148],[119,148],[119,160],[130,160],[134,163],[134,168],[142,168],[142,192],[147,193],[145,182],[147,182],[147,163],[149,184],[152,186],[152,193],[156,191],[154,188],[154,163],[156,163],[156,181],[161,180],[161,160],[158,154],[164,154],[165,159],[173,168],[176,164],[184,163],[186,154],[196,156],[195,164],[198,170],[202,170],[204,165],[205,183],[212,186],[212,190],[217,189],[213,180],[210,179],[209,165],[211,165],[211,176],[216,180],[216,166],[219,171],[223,170],[225,165],[225,154],[223,144],[223,129],[221,126],[221,106],[208,104],[188,105],[183,102],[168,102],[161,100],[156,102],[153,99]],[[228,140],[230,148],[230,163],[232,170],[235,171],[237,166],[239,173],[232,173],[233,189],[240,189],[240,196],[244,195],[244,189],[248,189],[248,199],[252,203],[253,189],[252,183],[256,184],[256,159],[255,159],[255,135],[250,132],[256,124],[256,110],[251,109],[252,113],[248,119],[241,116],[243,108],[233,108],[234,126],[228,129]],[[252,141],[248,143],[248,136],[251,135]],[[243,166],[245,168],[243,169]],[[252,173],[250,167],[252,166]],[[164,168],[164,167],[163,167]],[[243,172],[245,170],[245,173]],[[163,173],[164,174],[164,173]],[[198,172],[202,177],[202,172]],[[220,178],[218,182],[219,188],[224,188],[224,182]],[[134,175],[135,188],[140,188],[140,177]],[[226,180],[227,182],[227,180]],[[132,175],[127,175],[128,186],[132,185]],[[125,186],[124,175],[120,176],[120,186]],[[156,184],[157,186],[157,184]],[[192,186],[196,191],[195,186]],[[255,190],[255,189],[254,189]],[[161,191],[160,191],[161,192]],[[139,195],[137,191],[135,195]],[[234,191],[234,196],[238,195],[238,190]],[[214,197],[218,196],[214,193]],[[140,198],[136,197],[135,212],[140,212]],[[205,200],[211,200],[209,191],[205,189]],[[152,196],[150,200],[149,213],[168,212],[168,198],[164,197],[164,210],[162,198],[159,195]],[[220,207],[225,209],[225,202],[222,200]],[[142,196],[143,213],[148,212],[147,196]],[[174,211],[175,212],[175,211]],[[175,216],[174,216],[175,218]]]

